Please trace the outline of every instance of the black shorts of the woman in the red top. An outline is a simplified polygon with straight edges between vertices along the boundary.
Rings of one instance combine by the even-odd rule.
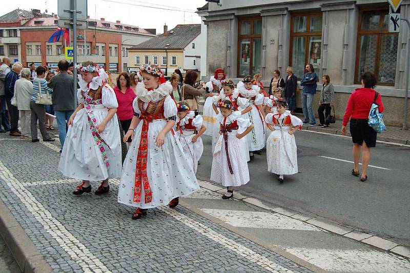
[[[367,119],[351,119],[350,120],[350,134],[352,135],[353,143],[366,143],[367,147],[376,147],[377,133],[372,127],[367,125]]]

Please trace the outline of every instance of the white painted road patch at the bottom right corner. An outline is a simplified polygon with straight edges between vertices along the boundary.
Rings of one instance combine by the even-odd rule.
[[[399,256],[376,250],[343,250],[286,247],[289,253],[331,272],[409,272],[410,263]]]

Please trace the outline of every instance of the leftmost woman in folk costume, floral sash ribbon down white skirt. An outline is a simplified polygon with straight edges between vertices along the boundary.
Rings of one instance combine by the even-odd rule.
[[[58,170],[66,177],[83,180],[73,192],[91,192],[91,181],[103,181],[95,194],[107,193],[109,178],[121,175],[121,139],[117,99],[107,84],[108,75],[93,62],[79,67],[79,106],[70,116]]]

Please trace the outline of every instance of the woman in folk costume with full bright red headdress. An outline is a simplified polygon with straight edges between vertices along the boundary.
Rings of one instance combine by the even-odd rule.
[[[207,83],[207,93],[205,104],[203,105],[203,124],[207,127],[206,135],[215,136],[216,138],[212,139],[212,151],[215,149],[215,144],[219,138],[219,126],[216,121],[216,114],[212,107],[213,105],[213,96],[218,96],[222,90],[222,82],[225,80],[226,75],[222,68],[215,70],[214,75],[211,77],[211,80]]]

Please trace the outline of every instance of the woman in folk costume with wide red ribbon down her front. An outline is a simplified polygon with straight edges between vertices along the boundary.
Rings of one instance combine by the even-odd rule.
[[[132,219],[148,208],[178,205],[179,197],[199,188],[182,146],[175,138],[177,108],[162,71],[155,65],[141,66],[144,84],[138,83],[134,118],[124,136],[132,143],[122,168],[118,202],[136,207]]]

